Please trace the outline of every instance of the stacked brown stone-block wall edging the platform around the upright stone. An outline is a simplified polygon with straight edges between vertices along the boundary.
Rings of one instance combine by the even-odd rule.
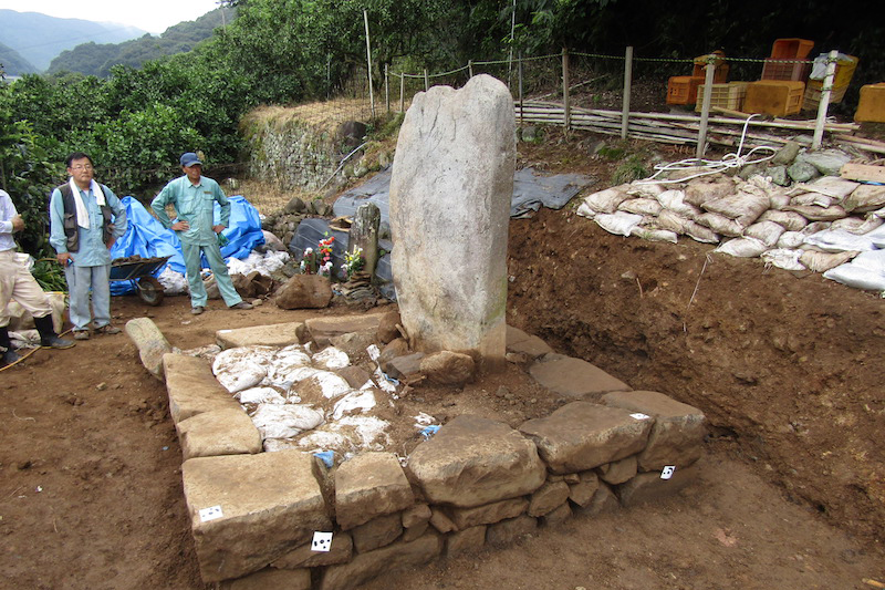
[[[218,342],[289,334],[283,341],[295,343],[321,334],[299,323],[275,328],[225,330]],[[257,428],[207,361],[164,355],[204,580],[229,590],[354,588],[573,516],[653,500],[694,479],[705,435],[697,408],[632,391],[513,328],[508,359],[573,401],[517,429],[458,416],[405,465],[373,452],[327,469],[300,451],[262,453]],[[333,534],[329,551],[315,550],[315,531]]]

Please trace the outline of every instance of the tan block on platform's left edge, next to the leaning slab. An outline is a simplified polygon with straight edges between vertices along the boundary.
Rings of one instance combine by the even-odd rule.
[[[204,359],[164,354],[163,372],[169,393],[169,414],[176,424],[212,410],[242,410],[239,402],[215,379],[211,363]]]

